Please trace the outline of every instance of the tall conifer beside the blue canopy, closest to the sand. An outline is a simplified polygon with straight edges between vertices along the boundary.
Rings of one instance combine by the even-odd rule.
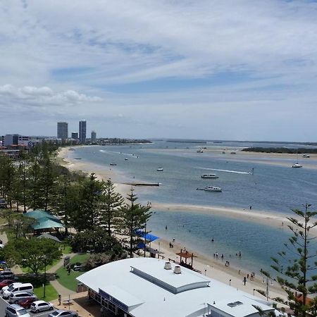
[[[146,227],[147,220],[151,217],[150,206],[142,206],[137,204],[137,195],[134,194],[134,189],[127,197],[128,204],[125,204],[120,209],[121,218],[121,235],[127,238],[123,242],[128,242],[128,251],[130,258],[133,257],[133,252],[137,250],[137,244],[141,242],[137,235],[137,230],[142,230]]]

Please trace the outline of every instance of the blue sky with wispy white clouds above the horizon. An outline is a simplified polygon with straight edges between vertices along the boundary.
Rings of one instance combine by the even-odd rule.
[[[316,142],[317,2],[1,0],[0,135]]]

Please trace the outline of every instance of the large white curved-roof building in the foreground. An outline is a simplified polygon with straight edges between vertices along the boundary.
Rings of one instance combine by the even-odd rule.
[[[257,297],[160,259],[115,261],[77,280],[104,311],[118,316],[257,317],[257,308],[275,311]]]

